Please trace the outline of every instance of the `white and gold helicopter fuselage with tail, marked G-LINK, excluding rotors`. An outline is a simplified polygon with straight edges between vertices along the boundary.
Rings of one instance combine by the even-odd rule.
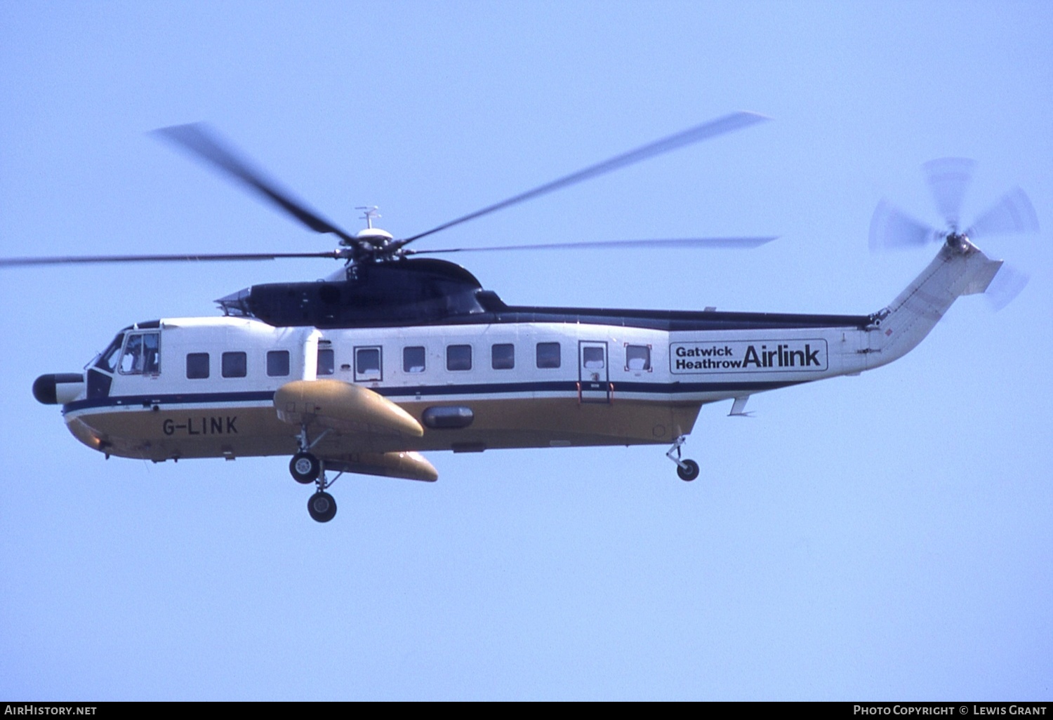
[[[325,469],[434,480],[418,452],[678,449],[702,404],[733,399],[741,414],[755,393],[902,356],[999,265],[968,241],[943,245],[867,316],[563,308],[541,321],[543,308],[512,307],[471,323],[333,329],[165,319],[122,331],[86,381],[44,378],[71,432],[106,455],[310,449]]]

